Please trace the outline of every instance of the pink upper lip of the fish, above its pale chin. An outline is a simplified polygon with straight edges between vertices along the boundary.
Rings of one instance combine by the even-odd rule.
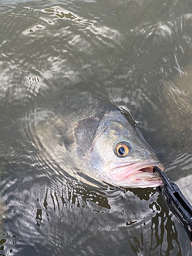
[[[138,162],[131,162],[131,163],[116,164],[115,167],[110,169],[110,175],[113,178],[113,180],[115,180],[116,182],[129,181],[129,179],[131,180],[133,178],[132,177],[133,175],[139,174],[139,173],[151,173],[151,176],[153,176],[153,167],[154,166],[159,167],[162,171],[164,170],[164,167],[162,164],[160,164],[160,162],[138,161]],[[117,175],[115,175],[115,174],[117,174]],[[154,174],[154,176],[157,176],[157,174]],[[159,177],[159,179],[160,179],[160,177]]]

